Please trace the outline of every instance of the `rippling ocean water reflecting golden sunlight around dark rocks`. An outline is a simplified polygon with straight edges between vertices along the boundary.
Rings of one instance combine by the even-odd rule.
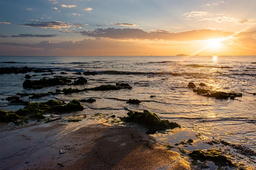
[[[243,168],[255,169],[256,56],[0,57],[0,67],[24,66],[52,69],[56,74],[43,75],[34,72],[0,74],[0,99],[15,96],[17,93],[47,93],[70,87],[83,89],[103,84],[128,83],[132,89],[83,91],[29,100],[45,102],[49,99],[57,99],[69,102],[72,99],[94,98],[96,102],[92,104],[82,103],[85,107],[83,111],[61,115],[62,119],[59,120],[65,122],[67,117],[86,115],[83,118],[85,124],[92,123],[92,120],[121,124],[118,117],[127,116],[127,110],[149,110],[156,113],[160,119],[168,119],[182,126],[151,134],[160,141],[175,146],[171,150],[180,152],[178,148],[187,151],[215,148]],[[94,71],[98,74],[74,74],[86,71]],[[22,83],[26,74],[35,75],[31,80],[52,78],[56,75],[74,78],[83,76],[88,80],[88,84],[25,89],[22,88]],[[193,92],[193,89],[188,87],[189,82],[195,84],[195,89],[242,93],[243,96],[235,99],[205,97]],[[206,86],[200,86],[200,83]],[[28,97],[23,97],[26,98]],[[129,99],[139,99],[141,103],[127,104],[126,101]],[[9,105],[6,100],[0,101],[2,110],[15,111],[22,107]],[[192,145],[177,144],[188,139],[193,139]]]

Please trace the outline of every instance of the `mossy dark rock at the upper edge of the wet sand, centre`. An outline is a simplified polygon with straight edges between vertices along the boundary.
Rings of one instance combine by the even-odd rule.
[[[167,130],[181,127],[175,122],[161,120],[155,113],[152,113],[148,110],[144,110],[143,113],[130,110],[127,114],[128,117],[122,118],[123,121],[142,124],[149,129]]]

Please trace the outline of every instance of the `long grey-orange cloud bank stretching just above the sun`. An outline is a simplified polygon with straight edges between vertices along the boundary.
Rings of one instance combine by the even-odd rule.
[[[80,31],[81,35],[89,37],[113,38],[113,39],[139,39],[139,40],[171,40],[171,41],[191,41],[191,40],[207,40],[211,38],[222,38],[232,35],[231,32],[220,30],[202,29],[191,30],[180,33],[170,33],[165,30],[153,30],[146,32],[142,29],[95,29],[94,31]]]

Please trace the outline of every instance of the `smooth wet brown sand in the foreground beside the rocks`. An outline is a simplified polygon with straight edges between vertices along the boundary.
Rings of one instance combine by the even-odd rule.
[[[72,126],[73,125],[73,126]],[[0,129],[4,170],[190,170],[186,157],[168,151],[140,127],[76,123]],[[60,149],[65,153],[61,154]]]

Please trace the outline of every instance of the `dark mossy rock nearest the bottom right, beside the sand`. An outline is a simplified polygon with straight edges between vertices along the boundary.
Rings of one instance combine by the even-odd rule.
[[[236,167],[236,165],[230,161],[226,156],[221,155],[218,150],[208,150],[202,151],[199,149],[193,150],[189,153],[189,156],[195,161],[213,161],[216,166],[227,166],[227,163],[230,167]]]

